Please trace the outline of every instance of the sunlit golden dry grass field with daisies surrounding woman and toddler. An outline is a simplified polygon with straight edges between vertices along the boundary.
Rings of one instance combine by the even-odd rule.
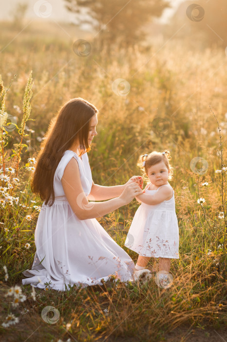
[[[78,39],[91,42],[86,57]],[[73,25],[32,21],[18,34],[0,22],[1,341],[227,341],[227,55],[177,36],[150,43],[108,51]],[[125,81],[114,88],[116,79]],[[89,152],[95,183],[124,184],[139,174],[141,153],[170,150],[180,258],[171,263],[169,288],[157,286],[155,274],[135,285],[110,279],[64,293],[21,286],[42,205],[30,189],[28,159],[58,108],[78,96],[99,109]],[[134,261],[124,241],[138,205],[98,219]],[[14,286],[19,303],[8,292]],[[58,310],[56,323],[42,319],[47,305]]]

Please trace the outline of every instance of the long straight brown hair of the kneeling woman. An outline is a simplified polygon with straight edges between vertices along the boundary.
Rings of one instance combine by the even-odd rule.
[[[31,181],[32,192],[39,194],[45,204],[54,204],[54,176],[64,152],[76,139],[80,146],[79,156],[91,150],[88,134],[91,119],[97,113],[98,109],[94,105],[77,97],[66,102],[51,120],[40,145],[36,170]]]

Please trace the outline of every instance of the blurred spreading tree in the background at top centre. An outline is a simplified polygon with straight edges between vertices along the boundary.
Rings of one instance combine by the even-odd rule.
[[[143,26],[170,7],[167,0],[65,0],[80,22],[90,23],[105,44],[132,46],[144,40]],[[90,19],[84,18],[87,10]]]

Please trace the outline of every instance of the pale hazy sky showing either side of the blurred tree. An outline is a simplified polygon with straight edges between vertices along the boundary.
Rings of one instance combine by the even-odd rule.
[[[95,0],[94,0],[95,1]],[[114,0],[110,0],[114,1]],[[175,9],[179,5],[180,2],[183,2],[184,0],[171,0],[171,6],[172,9],[166,9],[160,19],[161,22],[168,21],[168,18],[171,17],[171,15],[174,13]],[[44,5],[46,2],[47,7]],[[10,19],[13,17],[13,13],[15,12],[16,5],[18,3],[28,3],[28,11],[26,13],[27,18],[36,18],[37,15],[34,11],[34,5],[36,8],[40,6],[40,4],[43,3],[42,8],[48,8],[50,10],[50,16],[48,16],[48,19],[53,19],[57,21],[74,21],[75,15],[68,12],[64,5],[64,0],[0,0],[0,20],[2,19]]]

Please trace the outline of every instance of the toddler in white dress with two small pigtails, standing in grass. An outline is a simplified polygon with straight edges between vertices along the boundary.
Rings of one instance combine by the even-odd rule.
[[[139,166],[150,183],[135,198],[141,203],[129,229],[125,246],[138,253],[135,272],[145,269],[151,257],[159,258],[159,277],[170,271],[170,260],[179,258],[179,229],[169,163],[170,151],[153,151],[139,157]],[[133,177],[132,177],[133,178]],[[136,181],[136,180],[134,180]],[[163,274],[161,271],[164,271]]]

